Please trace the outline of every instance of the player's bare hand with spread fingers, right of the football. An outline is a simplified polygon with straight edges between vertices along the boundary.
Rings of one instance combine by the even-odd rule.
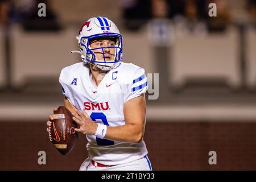
[[[75,112],[72,113],[73,119],[77,124],[79,124],[80,128],[75,129],[82,134],[95,134],[97,130],[97,124],[92,121],[92,118],[86,113],[85,109],[82,110],[82,113],[75,109]]]

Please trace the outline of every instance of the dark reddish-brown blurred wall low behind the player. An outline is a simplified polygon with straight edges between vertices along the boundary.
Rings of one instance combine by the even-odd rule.
[[[49,142],[44,121],[0,122],[0,170],[78,170],[87,158],[86,139],[61,155]],[[153,170],[255,170],[255,122],[147,121],[144,135]],[[209,165],[209,151],[217,165]],[[46,152],[46,165],[38,152]]]

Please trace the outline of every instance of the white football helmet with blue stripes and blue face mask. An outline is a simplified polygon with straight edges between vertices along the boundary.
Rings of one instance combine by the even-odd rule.
[[[92,49],[89,45],[90,40],[102,37],[112,37],[115,40],[115,46],[113,47],[100,47]],[[81,53],[82,60],[86,63],[96,65],[98,68],[109,71],[118,65],[118,62],[122,61],[122,35],[120,34],[117,26],[108,18],[98,16],[88,19],[87,22],[82,24],[79,31],[79,36],[76,37],[79,43],[80,51],[72,51]],[[104,48],[115,48],[114,60],[105,60]],[[104,56],[104,60],[98,60],[93,50],[101,49]]]

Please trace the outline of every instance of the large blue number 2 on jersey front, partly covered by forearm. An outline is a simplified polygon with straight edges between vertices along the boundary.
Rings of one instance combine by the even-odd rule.
[[[103,113],[92,113],[90,114],[90,118],[92,121],[96,121],[96,119],[101,119],[104,125],[109,126],[108,120],[106,119],[106,115]],[[114,142],[112,140],[100,139],[96,137],[96,142],[98,146],[113,146]]]

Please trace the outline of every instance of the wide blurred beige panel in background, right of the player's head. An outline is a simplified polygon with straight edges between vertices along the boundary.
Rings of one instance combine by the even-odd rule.
[[[179,88],[192,79],[224,80],[231,88],[241,85],[239,37],[235,28],[206,36],[176,33],[169,64],[173,86]]]

